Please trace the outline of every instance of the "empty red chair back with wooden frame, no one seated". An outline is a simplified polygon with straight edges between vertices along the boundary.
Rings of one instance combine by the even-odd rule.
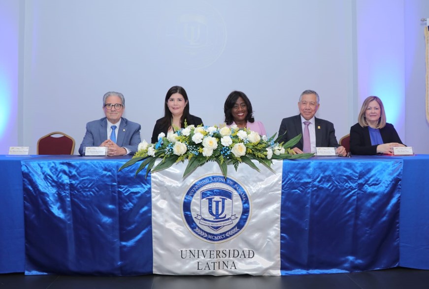
[[[73,154],[73,152],[74,139],[62,132],[52,132],[37,141],[37,154]]]

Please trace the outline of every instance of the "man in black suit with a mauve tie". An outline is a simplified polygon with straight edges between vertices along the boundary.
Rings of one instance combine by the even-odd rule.
[[[282,136],[280,142],[286,143],[301,134],[301,139],[293,148],[296,153],[314,153],[316,147],[336,147],[337,154],[345,156],[346,149],[338,145],[332,122],[314,116],[319,107],[319,95],[316,91],[302,92],[298,101],[299,115],[283,118],[280,124],[279,136]],[[307,139],[304,135],[306,131],[310,142],[304,144],[304,139]]]

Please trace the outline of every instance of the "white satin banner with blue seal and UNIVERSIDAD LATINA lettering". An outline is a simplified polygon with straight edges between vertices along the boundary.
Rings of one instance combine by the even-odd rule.
[[[186,164],[152,174],[153,273],[280,275],[282,162],[227,180],[214,162],[183,179]]]

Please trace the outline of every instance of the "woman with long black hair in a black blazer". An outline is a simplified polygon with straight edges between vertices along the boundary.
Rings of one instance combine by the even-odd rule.
[[[168,89],[164,102],[164,117],[157,120],[152,133],[152,144],[158,142],[158,135],[174,132],[176,128],[184,128],[185,120],[188,125],[203,124],[201,118],[189,114],[188,95],[183,87],[174,86]]]

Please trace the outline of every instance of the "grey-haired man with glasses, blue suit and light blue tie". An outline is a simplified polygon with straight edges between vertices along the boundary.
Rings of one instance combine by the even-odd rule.
[[[86,133],[79,153],[85,146],[105,146],[108,156],[133,154],[141,142],[140,125],[122,117],[125,98],[122,93],[109,91],[103,96],[103,111],[106,117],[86,124]]]

